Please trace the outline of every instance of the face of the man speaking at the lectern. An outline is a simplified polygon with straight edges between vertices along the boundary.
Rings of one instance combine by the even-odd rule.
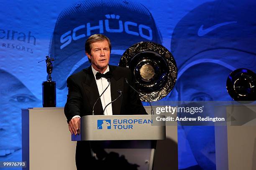
[[[99,71],[104,72],[109,63],[110,59],[110,49],[107,40],[93,42],[91,44],[91,54],[86,53],[86,55],[92,61],[92,67]]]

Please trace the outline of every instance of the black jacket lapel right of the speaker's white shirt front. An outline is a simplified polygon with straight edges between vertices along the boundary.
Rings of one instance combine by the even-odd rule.
[[[110,79],[110,89],[111,89],[111,100],[115,100],[119,93],[117,90],[121,90],[123,92],[124,79],[120,77],[120,72],[115,71],[115,67],[109,65],[110,72],[112,73],[112,77]],[[112,103],[112,111],[113,115],[120,115],[121,105],[122,105],[123,95],[121,95],[118,100]]]

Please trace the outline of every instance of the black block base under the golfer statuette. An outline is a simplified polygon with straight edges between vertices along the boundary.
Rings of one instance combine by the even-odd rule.
[[[43,107],[56,107],[56,82],[45,81],[43,87]]]

